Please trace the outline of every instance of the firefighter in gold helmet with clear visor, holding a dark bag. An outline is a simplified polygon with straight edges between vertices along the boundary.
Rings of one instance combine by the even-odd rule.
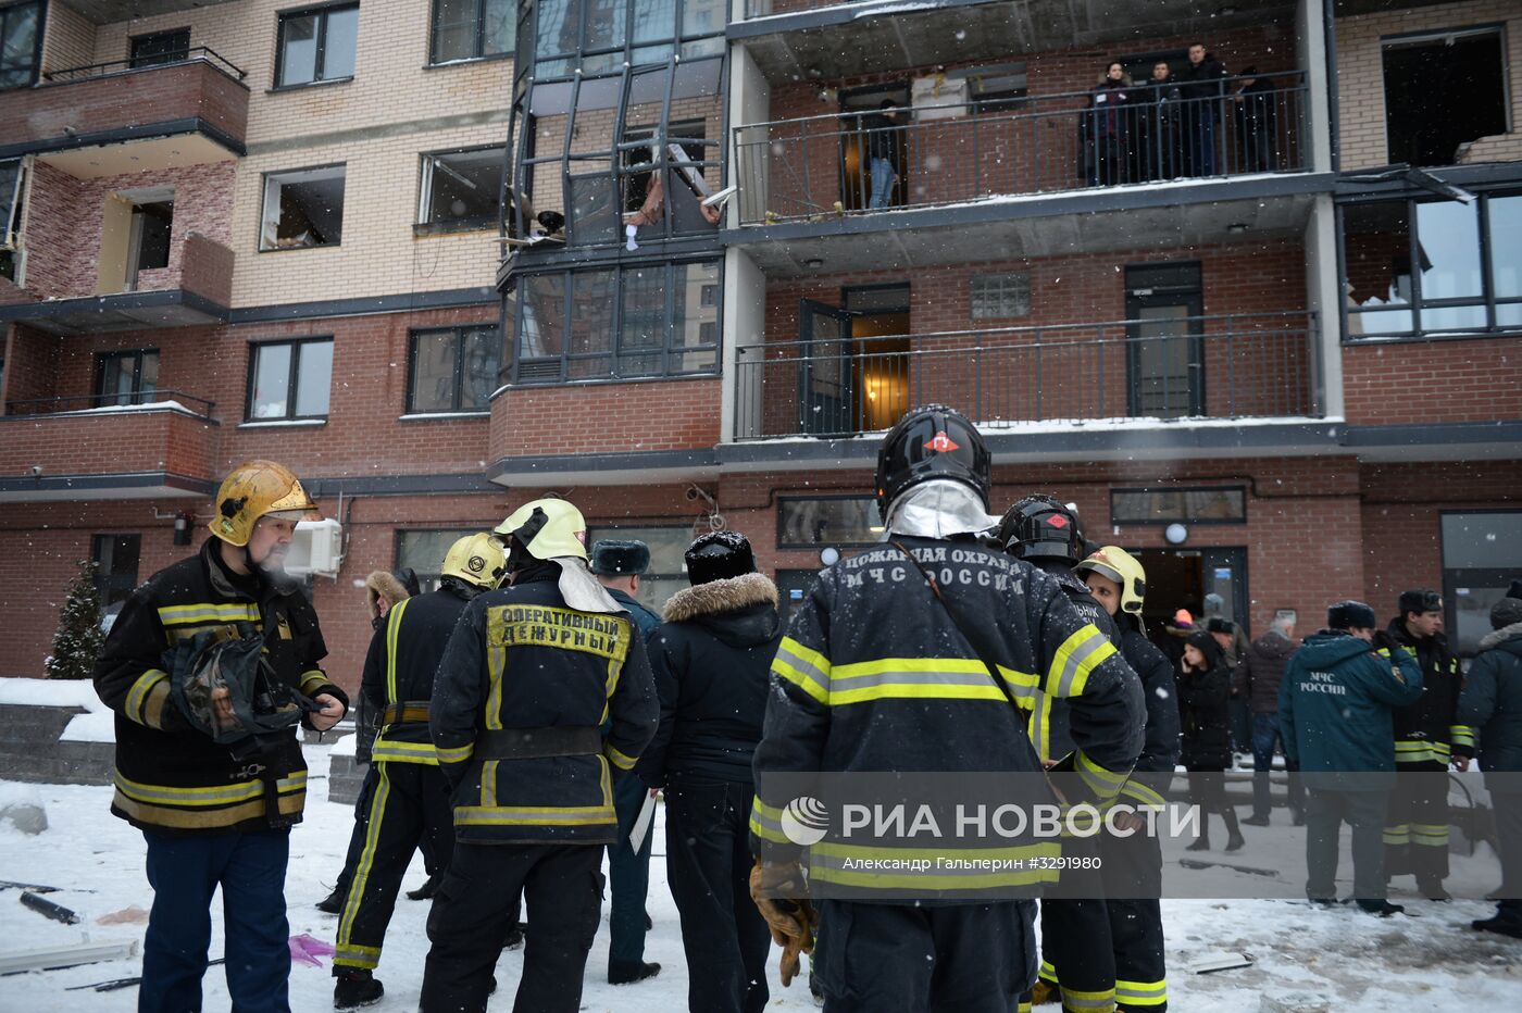
[[[240,1010],[286,1010],[291,954],[285,879],[291,826],[306,803],[306,762],[295,724],[225,745],[170,691],[184,672],[166,651],[204,640],[260,637],[268,703],[294,694],[320,707],[303,724],[338,724],[349,698],[320,668],[327,654],[317,613],[282,564],[298,520],[317,506],[285,465],[248,461],[218,490],[201,551],[154,573],[122,607],[94,684],[116,712],[111,812],[143,832],[154,910],[143,940],[139,1010],[201,1008],[212,942],[212,896],[227,922],[227,987]],[[193,646],[193,645],[190,645]],[[210,697],[222,719],[240,706]]]

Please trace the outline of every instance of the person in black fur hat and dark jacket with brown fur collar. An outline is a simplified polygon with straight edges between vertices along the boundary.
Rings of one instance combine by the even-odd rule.
[[[759,1013],[772,934],[750,900],[746,832],[772,657],[776,586],[744,535],[715,531],[686,551],[693,583],[650,639],[661,727],[635,768],[665,786],[667,873],[682,916],[688,1008]]]

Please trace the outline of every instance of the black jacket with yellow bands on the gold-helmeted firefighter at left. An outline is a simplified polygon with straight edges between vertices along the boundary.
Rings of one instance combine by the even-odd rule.
[[[233,573],[207,538],[201,552],[154,573],[132,592],[111,627],[94,684],[116,712],[116,795],[111,812],[155,834],[259,830],[301,821],[306,761],[295,729],[257,759],[193,730],[169,700],[164,653],[204,630],[265,633],[275,677],[306,694],[349,697],[318,662],[327,654],[317,613],[292,581]],[[310,726],[307,726],[310,727]]]

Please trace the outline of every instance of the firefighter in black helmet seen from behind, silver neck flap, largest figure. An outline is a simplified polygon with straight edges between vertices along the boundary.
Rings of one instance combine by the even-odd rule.
[[[798,605],[772,665],[755,754],[752,894],[796,970],[822,897],[817,972],[831,1013],[957,1008],[1008,1013],[1035,978],[1030,865],[992,873],[997,900],[957,873],[874,873],[854,885],[848,841],[802,852],[767,776],[790,771],[1041,771],[1021,700],[1067,698],[1075,765],[1119,786],[1142,745],[1135,675],[1058,581],[983,548],[991,458],[959,412],[906,414],[878,452],[889,543],[836,563]],[[925,569],[921,569],[925,567]],[[998,669],[995,675],[994,669]],[[1050,797],[1050,795],[1047,795]],[[910,900],[874,896],[886,888]],[[986,888],[986,884],[985,884]]]

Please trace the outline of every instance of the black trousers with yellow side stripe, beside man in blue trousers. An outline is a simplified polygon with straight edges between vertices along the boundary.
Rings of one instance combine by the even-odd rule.
[[[379,761],[370,797],[365,843],[338,922],[333,973],[373,969],[402,890],[402,876],[423,840],[447,867],[454,844],[449,782],[432,764]]]

